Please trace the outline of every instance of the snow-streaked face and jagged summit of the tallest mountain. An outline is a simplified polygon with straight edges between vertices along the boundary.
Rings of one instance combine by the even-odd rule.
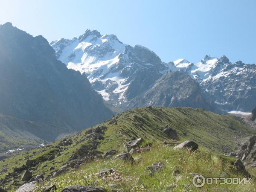
[[[167,69],[146,47],[131,47],[119,41],[116,35],[101,35],[96,30],[87,29],[79,38],[61,38],[50,45],[67,68],[86,74],[93,88],[114,105],[125,102],[126,90],[135,88],[129,85],[138,71]],[[134,91],[131,92],[126,95],[133,95]]]

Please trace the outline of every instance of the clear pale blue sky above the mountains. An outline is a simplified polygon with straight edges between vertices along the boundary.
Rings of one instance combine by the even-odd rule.
[[[49,42],[96,29],[165,62],[226,55],[256,63],[256,0],[1,0],[6,22]]]

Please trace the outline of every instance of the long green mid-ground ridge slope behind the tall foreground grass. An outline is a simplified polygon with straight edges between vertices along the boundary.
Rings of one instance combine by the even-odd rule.
[[[22,182],[13,177],[21,175],[27,169],[22,166],[27,159],[34,162],[30,169],[33,175],[44,174],[49,178],[54,172],[55,175],[61,173],[61,166],[65,164],[68,165],[66,168],[71,169],[90,162],[91,158],[100,158],[110,150],[126,151],[128,149],[124,148],[124,142],[131,140],[131,137],[143,138],[141,145],[170,141],[162,131],[166,126],[176,130],[180,141],[194,140],[200,147],[221,153],[234,151],[240,137],[255,134],[255,131],[235,116],[192,108],[137,108],[93,127],[96,129],[81,131],[46,147],[0,162],[0,167],[9,169],[0,175],[0,180],[6,189],[13,188],[14,183],[20,185]],[[54,160],[48,161],[53,154]],[[15,163],[17,158],[25,160]],[[13,172],[15,167],[20,169]],[[53,168],[49,169],[50,167]],[[5,183],[5,179],[11,180]]]

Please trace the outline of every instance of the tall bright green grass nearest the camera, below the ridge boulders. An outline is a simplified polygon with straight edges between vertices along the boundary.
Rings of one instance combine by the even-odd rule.
[[[160,149],[160,150],[159,150]],[[134,164],[122,160],[98,160],[88,163],[79,169],[64,173],[56,178],[48,180],[44,185],[55,184],[57,192],[65,186],[81,184],[102,186],[111,191],[199,191],[192,185],[192,175],[202,174],[205,177],[244,177],[233,171],[232,158],[224,158],[218,154],[210,153],[204,148],[198,151],[174,150],[172,146],[163,146],[155,143],[149,152],[133,155],[136,159]],[[156,162],[163,162],[165,168],[162,171],[150,175],[146,166]],[[100,177],[96,173],[101,169],[114,169],[116,172],[109,176]],[[109,186],[114,184],[114,186]],[[43,185],[39,184],[38,191]],[[252,185],[205,185],[204,191],[221,191],[221,189],[233,192],[255,191]]]

